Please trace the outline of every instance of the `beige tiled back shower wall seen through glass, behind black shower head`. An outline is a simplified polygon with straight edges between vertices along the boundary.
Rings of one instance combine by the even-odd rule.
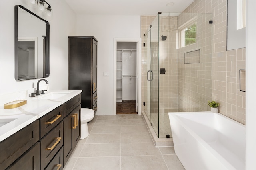
[[[160,15],[159,24],[159,113],[178,111],[178,53],[176,50],[177,16]],[[166,36],[162,40],[161,36]],[[162,121],[160,121],[162,122]]]

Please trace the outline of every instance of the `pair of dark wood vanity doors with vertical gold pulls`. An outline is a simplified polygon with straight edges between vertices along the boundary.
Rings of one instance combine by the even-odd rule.
[[[81,105],[64,118],[64,166],[81,137]]]

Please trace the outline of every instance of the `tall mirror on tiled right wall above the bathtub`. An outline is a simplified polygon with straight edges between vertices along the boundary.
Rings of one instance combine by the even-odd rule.
[[[245,48],[246,0],[227,0],[227,50]]]

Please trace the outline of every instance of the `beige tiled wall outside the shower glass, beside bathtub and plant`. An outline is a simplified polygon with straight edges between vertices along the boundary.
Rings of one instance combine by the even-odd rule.
[[[219,113],[245,124],[245,95],[239,70],[245,69],[245,48],[226,51],[227,0],[195,0],[184,12],[212,13],[212,100]]]

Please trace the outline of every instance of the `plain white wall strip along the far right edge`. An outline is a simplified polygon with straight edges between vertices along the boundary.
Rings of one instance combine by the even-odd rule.
[[[248,0],[246,4],[246,170],[256,169],[256,1]]]

